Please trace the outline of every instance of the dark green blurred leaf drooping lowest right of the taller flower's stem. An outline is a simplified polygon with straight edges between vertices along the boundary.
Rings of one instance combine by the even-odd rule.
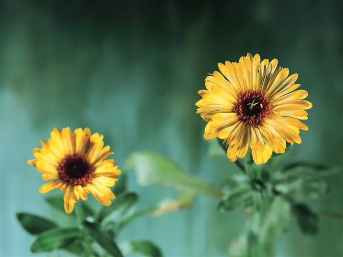
[[[317,234],[319,216],[305,204],[296,204],[294,205],[293,210],[301,231],[304,234]]]

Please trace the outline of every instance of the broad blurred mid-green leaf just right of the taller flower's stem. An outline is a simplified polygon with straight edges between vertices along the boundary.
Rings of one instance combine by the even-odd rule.
[[[287,183],[279,183],[274,188],[281,194],[293,197],[319,198],[328,192],[326,182],[313,176],[302,176]]]

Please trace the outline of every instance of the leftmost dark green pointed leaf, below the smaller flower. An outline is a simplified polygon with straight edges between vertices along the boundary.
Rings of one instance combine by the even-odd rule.
[[[34,214],[18,212],[16,216],[23,228],[30,234],[41,234],[46,230],[57,227],[54,222]]]

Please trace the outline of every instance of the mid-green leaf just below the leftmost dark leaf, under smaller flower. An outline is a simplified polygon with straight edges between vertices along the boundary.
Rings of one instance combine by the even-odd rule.
[[[63,247],[65,240],[81,236],[77,228],[53,228],[39,234],[30,250],[33,253],[50,252]]]

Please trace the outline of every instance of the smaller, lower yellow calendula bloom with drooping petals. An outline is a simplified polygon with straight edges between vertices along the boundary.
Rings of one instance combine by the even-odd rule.
[[[43,180],[52,180],[43,185],[39,191],[49,192],[54,188],[65,191],[64,209],[73,211],[74,204],[81,197],[87,200],[87,193],[103,205],[110,206],[115,195],[109,187],[113,187],[121,171],[113,159],[110,147],[105,146],[103,136],[91,135],[89,128],[78,128],[74,133],[70,128],[60,131],[54,128],[48,142],[41,140],[42,148],[33,149],[36,160],[28,161],[42,172]]]

